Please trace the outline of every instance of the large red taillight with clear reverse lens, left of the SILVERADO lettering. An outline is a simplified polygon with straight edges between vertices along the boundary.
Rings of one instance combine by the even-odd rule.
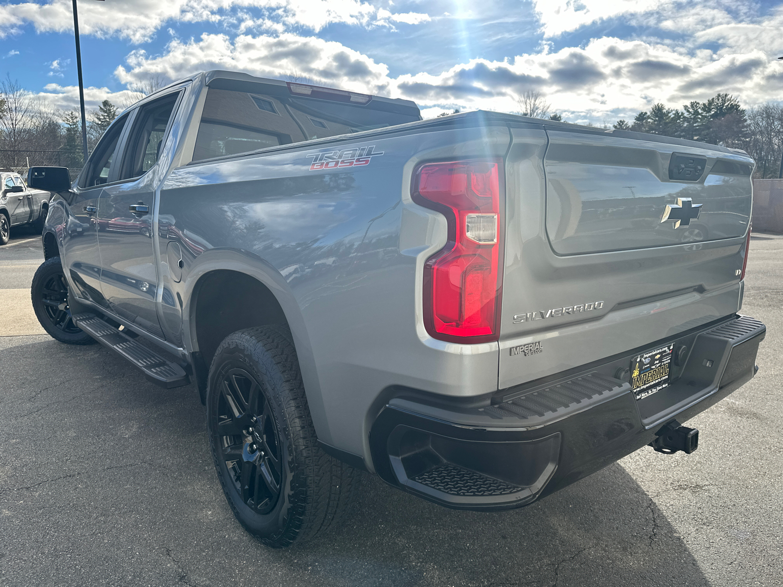
[[[442,212],[446,247],[424,265],[424,323],[432,337],[461,343],[500,333],[500,160],[420,167],[413,200]]]

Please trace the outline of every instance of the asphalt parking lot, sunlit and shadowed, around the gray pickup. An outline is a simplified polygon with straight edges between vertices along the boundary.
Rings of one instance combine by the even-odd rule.
[[[348,522],[272,550],[234,520],[193,387],[41,335],[40,239],[0,247],[0,585],[781,585],[783,236],[752,237],[758,376],[645,448],[522,510],[456,512],[365,475]]]

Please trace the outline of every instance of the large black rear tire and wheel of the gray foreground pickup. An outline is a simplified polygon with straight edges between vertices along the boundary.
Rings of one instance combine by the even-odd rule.
[[[251,380],[256,382],[256,387],[248,383]],[[232,382],[234,387],[230,387]],[[237,391],[227,392],[226,386]],[[243,387],[249,391],[239,391]],[[258,394],[259,390],[262,394]],[[227,400],[227,394],[235,395],[236,399]],[[227,412],[229,405],[244,405],[247,413],[236,416],[241,409]],[[252,405],[263,407],[255,409]],[[269,416],[259,416],[261,412]],[[256,427],[255,432],[243,435],[247,434],[248,417]],[[269,421],[262,423],[265,420]],[[219,429],[235,425],[242,428],[243,434],[226,436],[222,431],[227,429]],[[218,479],[229,506],[240,524],[266,546],[282,548],[303,542],[344,517],[357,490],[359,472],[327,455],[317,445],[296,351],[286,326],[240,330],[223,340],[209,371],[207,427]],[[272,433],[276,433],[276,441],[272,441]],[[280,492],[275,497],[268,484],[256,481],[258,495],[248,499],[250,491],[243,481],[245,469],[241,467],[251,468],[249,459],[254,454],[260,455],[254,470],[260,479],[265,455],[262,448],[269,448],[269,454],[277,452],[281,457]],[[229,453],[233,457],[227,457]],[[239,454],[242,456],[237,467]],[[238,473],[240,470],[242,473]],[[251,475],[248,473],[247,477]]]

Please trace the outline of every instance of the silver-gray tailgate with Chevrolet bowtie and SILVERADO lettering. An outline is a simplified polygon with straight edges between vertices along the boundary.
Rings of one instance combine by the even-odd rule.
[[[642,137],[512,128],[500,388],[738,311],[752,160]]]

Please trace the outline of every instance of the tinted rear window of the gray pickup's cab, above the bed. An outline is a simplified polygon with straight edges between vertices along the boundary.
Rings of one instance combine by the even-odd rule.
[[[282,92],[266,95],[209,88],[193,161],[418,120],[417,111],[414,116],[413,113],[377,110],[369,105],[283,95]]]

